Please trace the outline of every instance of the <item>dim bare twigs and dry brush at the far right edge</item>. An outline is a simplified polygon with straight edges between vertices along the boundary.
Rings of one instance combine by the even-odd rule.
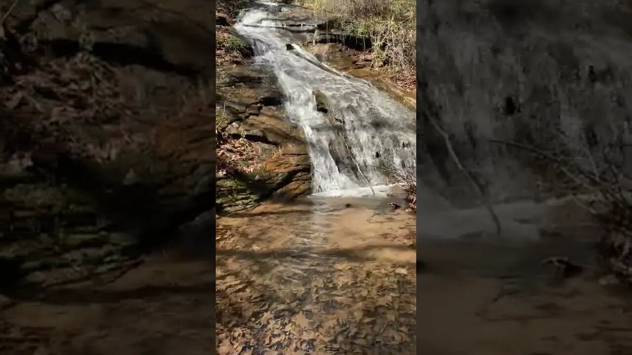
[[[590,148],[585,139],[559,133],[559,145],[554,151],[544,151],[523,143],[494,140],[532,153],[561,175],[553,187],[563,195],[571,195],[603,226],[599,248],[604,267],[619,279],[632,282],[632,176],[626,172],[629,152],[626,133],[614,129],[608,144]],[[629,149],[629,148],[628,148]],[[628,154],[626,154],[628,153]],[[626,159],[626,157],[628,159]]]

